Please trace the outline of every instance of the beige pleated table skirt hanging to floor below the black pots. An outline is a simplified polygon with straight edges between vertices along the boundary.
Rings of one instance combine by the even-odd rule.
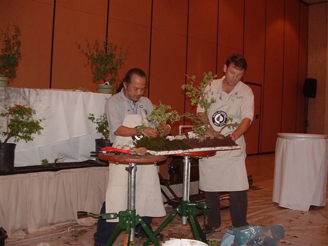
[[[11,237],[73,221],[90,226],[96,219],[78,219],[76,212],[99,213],[108,173],[108,167],[93,167],[0,176],[0,227]]]

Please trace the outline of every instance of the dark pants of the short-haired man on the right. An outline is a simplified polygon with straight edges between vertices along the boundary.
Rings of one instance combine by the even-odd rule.
[[[247,191],[230,191],[230,217],[233,227],[247,226]],[[208,226],[219,228],[221,226],[220,192],[205,192],[205,202],[210,204],[208,210]]]

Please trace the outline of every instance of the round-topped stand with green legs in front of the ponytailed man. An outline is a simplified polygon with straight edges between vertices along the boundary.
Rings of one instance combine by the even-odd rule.
[[[129,163],[129,167],[126,170],[129,172],[129,180],[128,181],[128,209],[126,211],[119,211],[118,213],[104,213],[104,214],[93,214],[84,211],[78,211],[77,217],[82,218],[86,216],[95,216],[101,217],[103,219],[116,219],[118,218],[118,224],[115,228],[114,233],[108,239],[106,245],[110,246],[113,244],[114,240],[118,236],[121,230],[125,229],[125,237],[124,237],[124,246],[130,245],[130,241],[134,241],[134,231],[135,227],[140,223],[142,229],[146,232],[149,237],[149,241],[147,240],[144,245],[148,245],[151,241],[155,246],[159,246],[159,242],[156,239],[157,234],[161,231],[156,230],[154,233],[150,230],[147,224],[141,219],[139,215],[136,215],[135,208],[135,181],[136,181],[136,165],[154,165],[154,163],[158,161],[166,160],[166,155],[150,155],[150,156],[134,156],[134,155],[115,155],[115,154],[107,154],[107,153],[99,153],[99,158],[111,162],[115,162],[118,164]]]

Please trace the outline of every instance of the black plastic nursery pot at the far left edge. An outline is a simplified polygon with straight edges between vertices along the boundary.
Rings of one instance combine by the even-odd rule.
[[[14,171],[16,144],[0,144],[0,172]]]

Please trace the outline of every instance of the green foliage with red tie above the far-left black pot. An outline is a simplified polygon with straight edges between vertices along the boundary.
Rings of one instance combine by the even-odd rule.
[[[33,119],[34,109],[16,104],[14,107],[7,107],[7,110],[8,112],[0,114],[7,121],[6,131],[1,132],[1,135],[6,138],[3,142],[0,139],[0,143],[6,144],[11,137],[14,138],[14,142],[18,142],[20,139],[28,142],[33,140],[32,134],[41,134],[43,127],[40,126],[40,122],[44,118]]]

